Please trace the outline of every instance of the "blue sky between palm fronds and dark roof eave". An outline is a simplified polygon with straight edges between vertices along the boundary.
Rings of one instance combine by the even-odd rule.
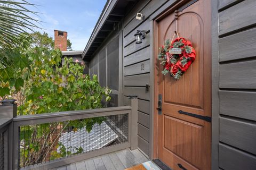
[[[54,38],[54,29],[67,31],[74,50],[83,50],[106,0],[29,0],[37,4],[41,27]],[[29,7],[30,8],[30,7]]]

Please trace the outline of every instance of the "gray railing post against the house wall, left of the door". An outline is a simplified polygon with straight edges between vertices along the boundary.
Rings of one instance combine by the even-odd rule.
[[[129,96],[131,101],[131,150],[138,147],[138,98],[137,96]]]

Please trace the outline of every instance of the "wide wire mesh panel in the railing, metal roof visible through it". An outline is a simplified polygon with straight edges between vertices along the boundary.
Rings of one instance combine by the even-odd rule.
[[[19,167],[128,142],[128,114],[19,127]]]

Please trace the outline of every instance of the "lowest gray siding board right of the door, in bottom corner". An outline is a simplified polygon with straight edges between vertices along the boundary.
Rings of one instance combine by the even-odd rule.
[[[243,151],[219,145],[219,166],[225,170],[256,169],[256,157]]]

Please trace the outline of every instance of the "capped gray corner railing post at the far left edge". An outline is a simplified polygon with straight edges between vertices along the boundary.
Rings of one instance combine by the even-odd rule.
[[[15,99],[8,99],[0,101],[0,118],[13,118],[17,116],[17,104]],[[13,123],[9,124],[9,127],[5,133],[4,146],[4,169],[13,169]],[[18,159],[18,158],[17,158]]]

